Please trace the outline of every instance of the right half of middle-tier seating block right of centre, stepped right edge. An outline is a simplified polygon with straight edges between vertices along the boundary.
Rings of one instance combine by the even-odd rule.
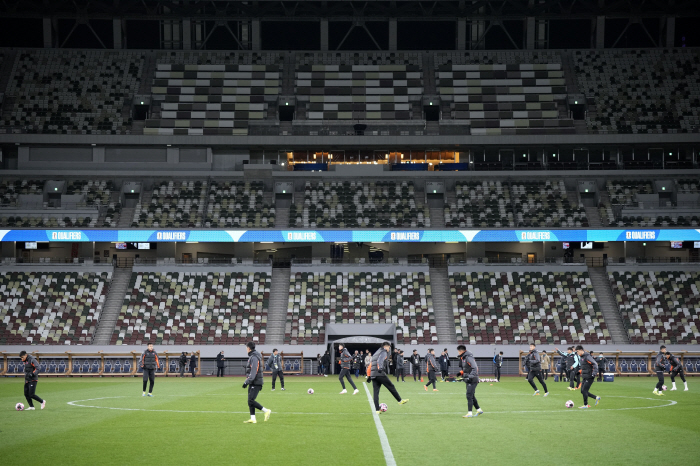
[[[586,211],[568,199],[562,180],[511,184],[516,221],[527,227],[587,227]]]

